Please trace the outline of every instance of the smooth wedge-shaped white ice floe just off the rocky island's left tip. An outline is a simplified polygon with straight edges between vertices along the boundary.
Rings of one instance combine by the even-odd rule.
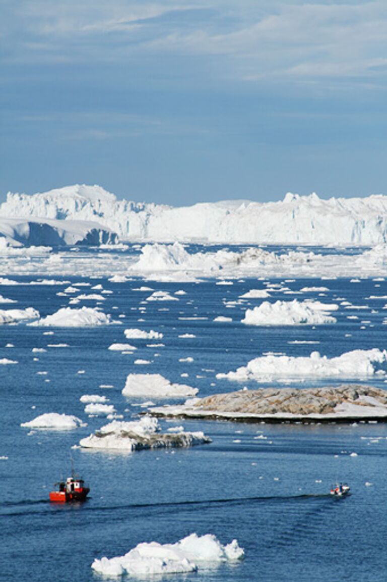
[[[128,374],[122,393],[124,396],[175,398],[195,396],[198,389],[184,384],[172,384],[161,374]]]

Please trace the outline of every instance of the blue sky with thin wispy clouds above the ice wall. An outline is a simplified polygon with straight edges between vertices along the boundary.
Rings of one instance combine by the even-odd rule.
[[[387,194],[387,2],[0,0],[0,201]]]

